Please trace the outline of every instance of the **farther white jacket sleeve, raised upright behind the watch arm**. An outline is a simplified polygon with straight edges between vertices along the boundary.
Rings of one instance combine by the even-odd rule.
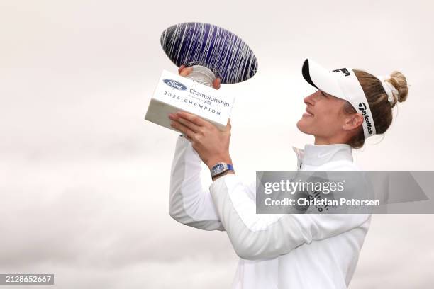
[[[210,191],[201,184],[201,159],[182,136],[178,137],[172,162],[169,214],[190,227],[224,230]]]

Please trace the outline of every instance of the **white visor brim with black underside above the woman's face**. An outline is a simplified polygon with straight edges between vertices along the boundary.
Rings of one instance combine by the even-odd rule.
[[[311,84],[311,86],[316,89],[324,91],[332,96],[345,99],[334,72],[325,69],[313,60],[309,60],[308,58],[304,60],[301,74],[303,74],[303,77],[308,84]]]

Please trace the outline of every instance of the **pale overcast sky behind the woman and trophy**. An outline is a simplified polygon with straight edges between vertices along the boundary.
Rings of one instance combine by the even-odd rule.
[[[162,69],[160,33],[186,21],[240,35],[259,72],[235,94],[238,174],[296,166],[301,78],[326,67],[403,72],[410,87],[365,170],[431,171],[430,1],[17,1],[0,3],[0,273],[55,273],[50,288],[228,288],[222,232],[168,214],[177,133],[143,120]],[[395,111],[396,114],[396,111]],[[350,288],[432,288],[433,215],[375,215]],[[19,286],[16,286],[18,289]],[[42,287],[41,287],[42,288]]]

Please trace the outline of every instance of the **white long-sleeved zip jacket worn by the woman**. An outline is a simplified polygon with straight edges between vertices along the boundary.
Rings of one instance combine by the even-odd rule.
[[[349,145],[296,149],[299,171],[360,171]],[[226,230],[240,256],[233,288],[347,288],[370,215],[257,215],[255,182],[221,176],[201,186],[201,159],[179,137],[172,163],[169,213],[178,222]]]

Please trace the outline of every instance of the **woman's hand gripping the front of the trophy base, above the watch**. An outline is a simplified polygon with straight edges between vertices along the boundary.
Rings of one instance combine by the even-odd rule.
[[[226,128],[219,130],[203,118],[183,111],[170,114],[169,118],[172,120],[172,128],[187,136],[209,169],[219,162],[232,164],[229,155],[230,119]]]

